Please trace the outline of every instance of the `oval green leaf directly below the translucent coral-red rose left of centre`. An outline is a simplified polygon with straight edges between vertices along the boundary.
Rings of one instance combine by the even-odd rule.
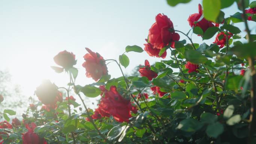
[[[86,85],[80,89],[80,91],[89,98],[95,98],[101,94],[101,90],[95,86]]]

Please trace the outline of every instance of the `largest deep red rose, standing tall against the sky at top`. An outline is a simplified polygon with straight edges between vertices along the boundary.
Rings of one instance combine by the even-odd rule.
[[[171,48],[174,48],[174,41],[178,41],[180,35],[174,32],[173,22],[166,16],[160,13],[156,16],[156,22],[149,29],[149,42],[153,48],[162,49],[171,43]]]

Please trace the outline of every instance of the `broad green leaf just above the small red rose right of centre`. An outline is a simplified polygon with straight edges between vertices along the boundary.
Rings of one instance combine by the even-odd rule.
[[[201,52],[196,50],[186,50],[185,58],[194,64],[204,64],[208,60]]]

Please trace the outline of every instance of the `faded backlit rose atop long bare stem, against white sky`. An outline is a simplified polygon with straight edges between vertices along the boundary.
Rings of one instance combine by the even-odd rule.
[[[60,52],[58,55],[54,56],[54,61],[57,65],[68,69],[72,68],[73,65],[76,64],[76,56],[72,52],[67,52],[64,50],[63,52]]]

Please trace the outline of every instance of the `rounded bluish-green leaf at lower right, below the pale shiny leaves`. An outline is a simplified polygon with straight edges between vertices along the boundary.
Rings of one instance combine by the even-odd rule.
[[[208,125],[205,132],[209,137],[217,138],[223,131],[224,126],[219,122],[216,122]]]

